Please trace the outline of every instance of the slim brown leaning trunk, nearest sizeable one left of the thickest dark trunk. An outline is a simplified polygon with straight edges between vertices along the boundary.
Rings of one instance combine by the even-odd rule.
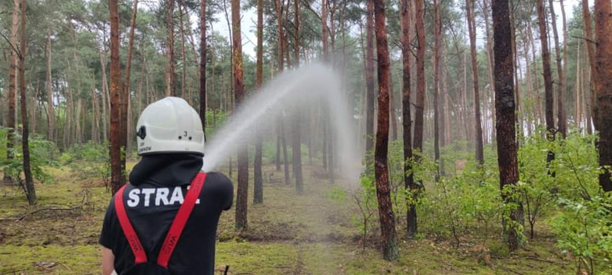
[[[469,45],[472,57],[472,88],[474,89],[474,119],[476,119],[475,138],[476,138],[476,161],[479,166],[485,163],[482,146],[482,122],[480,122],[480,93],[478,83],[478,63],[476,53],[476,21],[474,20],[474,0],[466,0],[466,10],[468,14]]]

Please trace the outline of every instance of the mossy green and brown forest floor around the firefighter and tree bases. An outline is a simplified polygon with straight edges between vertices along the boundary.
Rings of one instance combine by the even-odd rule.
[[[20,221],[0,221],[0,274],[100,273],[98,238],[110,193],[103,183],[70,168],[50,171],[56,183],[36,185],[37,207],[28,207],[21,189],[1,183],[0,219],[19,218],[41,208],[76,208],[39,210]],[[222,274],[226,265],[230,274],[575,272],[572,262],[554,248],[554,237],[543,228],[526,249],[498,255],[494,248],[499,247],[499,238],[462,236],[461,245],[455,248],[449,241],[433,237],[406,240],[405,224],[399,224],[401,257],[397,262],[386,262],[374,241],[378,227],[374,226],[370,241],[363,246],[353,224],[359,208],[350,197],[340,201],[330,196],[342,183],[338,180],[332,185],[313,174],[313,167],[304,166],[305,191],[297,195],[293,186],[283,183],[282,172],[274,171],[274,166],[264,167],[264,204],[252,205],[249,198],[248,230],[234,232],[233,209],[222,215],[217,274]],[[377,215],[375,211],[373,218]]]

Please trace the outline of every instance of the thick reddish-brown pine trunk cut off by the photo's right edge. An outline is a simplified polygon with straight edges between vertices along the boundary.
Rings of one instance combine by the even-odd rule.
[[[599,185],[612,191],[612,3],[595,0],[595,78],[597,84],[597,128],[599,130]],[[22,38],[23,40],[23,38]]]

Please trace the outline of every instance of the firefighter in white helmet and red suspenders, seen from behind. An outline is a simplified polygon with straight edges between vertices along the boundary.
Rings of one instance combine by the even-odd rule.
[[[111,199],[100,234],[102,273],[213,274],[217,223],[233,184],[201,171],[204,132],[182,98],[144,109],[136,125],[142,159]]]

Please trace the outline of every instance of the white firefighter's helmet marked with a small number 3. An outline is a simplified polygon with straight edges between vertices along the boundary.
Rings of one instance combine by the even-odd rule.
[[[138,155],[204,155],[204,132],[198,113],[182,98],[166,97],[144,108],[136,125]]]

